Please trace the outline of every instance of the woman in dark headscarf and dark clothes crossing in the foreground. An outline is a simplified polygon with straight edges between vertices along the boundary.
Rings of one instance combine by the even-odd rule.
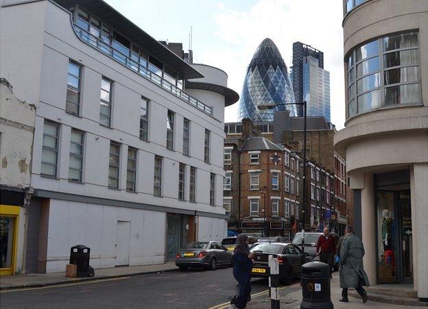
[[[233,277],[239,284],[239,294],[230,301],[239,309],[246,308],[251,293],[251,269],[253,252],[248,247],[249,238],[246,234],[237,236],[237,246],[233,250]]]

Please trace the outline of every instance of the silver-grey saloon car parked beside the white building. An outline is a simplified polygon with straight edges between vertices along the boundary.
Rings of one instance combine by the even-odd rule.
[[[212,271],[219,266],[232,266],[233,254],[217,241],[188,243],[176,254],[176,266],[180,271],[204,267]]]

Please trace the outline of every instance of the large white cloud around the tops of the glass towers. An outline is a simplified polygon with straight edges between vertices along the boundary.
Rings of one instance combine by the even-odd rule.
[[[224,69],[229,86],[241,92],[252,54],[264,38],[272,38],[287,66],[292,44],[300,41],[324,52],[324,69],[330,71],[331,120],[344,125],[344,71],[342,1],[259,0],[247,10],[220,3],[214,15],[215,35],[222,47],[202,52],[198,58]],[[226,108],[226,121],[236,121],[237,104]]]

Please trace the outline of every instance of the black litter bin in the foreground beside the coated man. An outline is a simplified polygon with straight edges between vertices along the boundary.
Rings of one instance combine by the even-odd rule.
[[[302,265],[302,303],[300,309],[330,309],[330,267],[323,262]]]

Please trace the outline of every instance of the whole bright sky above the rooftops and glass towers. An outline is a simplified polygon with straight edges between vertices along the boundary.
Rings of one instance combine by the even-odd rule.
[[[264,38],[271,38],[287,67],[293,42],[324,52],[330,72],[331,122],[344,127],[342,0],[106,0],[156,40],[182,42],[193,62],[228,73],[228,87],[241,95],[246,68]],[[225,121],[237,121],[238,103],[226,108]]]

